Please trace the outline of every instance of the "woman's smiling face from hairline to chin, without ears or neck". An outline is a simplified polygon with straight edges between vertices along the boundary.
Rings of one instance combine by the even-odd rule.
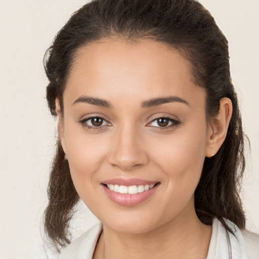
[[[194,214],[205,92],[176,51],[148,39],[79,49],[60,137],[80,198],[110,229],[144,233]]]

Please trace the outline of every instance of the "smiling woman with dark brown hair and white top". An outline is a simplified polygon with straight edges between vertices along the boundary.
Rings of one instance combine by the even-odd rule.
[[[244,136],[228,42],[198,2],[94,0],[46,54],[59,141],[45,227],[60,258],[258,258],[239,184]],[[257,250],[256,250],[257,249]]]

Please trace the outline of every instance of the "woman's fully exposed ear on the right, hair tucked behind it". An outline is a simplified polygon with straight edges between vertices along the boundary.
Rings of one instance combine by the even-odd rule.
[[[231,116],[232,102],[229,98],[222,98],[218,114],[211,119],[208,125],[206,157],[212,157],[219,151],[226,139]]]

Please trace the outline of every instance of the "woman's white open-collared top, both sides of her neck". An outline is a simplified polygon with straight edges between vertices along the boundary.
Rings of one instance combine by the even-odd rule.
[[[240,231],[234,223],[225,221],[235,236],[214,219],[207,259],[259,259],[259,235]],[[59,259],[92,259],[102,228],[100,222],[83,233],[62,251]]]

